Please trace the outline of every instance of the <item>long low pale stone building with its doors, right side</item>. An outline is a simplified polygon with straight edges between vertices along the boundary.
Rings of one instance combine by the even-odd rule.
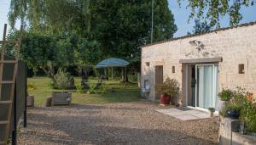
[[[172,102],[218,109],[222,88],[256,93],[256,22],[143,46],[141,63],[145,98],[159,99],[155,84],[169,77],[181,91]]]

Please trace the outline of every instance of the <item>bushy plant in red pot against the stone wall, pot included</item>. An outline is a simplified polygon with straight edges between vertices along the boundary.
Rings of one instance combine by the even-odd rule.
[[[157,92],[160,92],[160,103],[163,105],[170,104],[171,97],[178,95],[179,88],[178,82],[175,79],[166,78],[166,81],[162,84],[156,85]]]

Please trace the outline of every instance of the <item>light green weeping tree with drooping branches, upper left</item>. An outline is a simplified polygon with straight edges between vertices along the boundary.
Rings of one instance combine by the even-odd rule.
[[[81,33],[89,28],[90,0],[12,0],[9,24],[15,21],[29,25],[34,33],[55,34],[60,31],[76,30]]]

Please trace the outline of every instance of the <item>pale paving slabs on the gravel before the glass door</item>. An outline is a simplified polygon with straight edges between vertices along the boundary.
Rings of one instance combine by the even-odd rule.
[[[175,117],[178,120],[201,120],[210,118],[210,114],[195,109],[156,109],[156,111]]]

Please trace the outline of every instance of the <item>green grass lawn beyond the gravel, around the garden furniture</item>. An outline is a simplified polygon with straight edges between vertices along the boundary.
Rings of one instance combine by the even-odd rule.
[[[33,77],[27,79],[28,84],[33,84],[34,89],[28,89],[30,95],[35,97],[35,105],[45,105],[46,98],[51,96],[51,92],[61,91],[49,88],[48,77]],[[80,84],[81,79],[75,77],[75,85]],[[90,82],[97,82],[96,78],[90,78]],[[119,81],[106,81],[108,86],[106,93],[98,92],[97,94],[87,94],[86,90],[83,93],[72,91],[72,103],[86,104],[86,103],[125,103],[137,101],[140,97],[139,88],[136,84],[128,84],[126,87]],[[116,92],[111,92],[112,86]]]

